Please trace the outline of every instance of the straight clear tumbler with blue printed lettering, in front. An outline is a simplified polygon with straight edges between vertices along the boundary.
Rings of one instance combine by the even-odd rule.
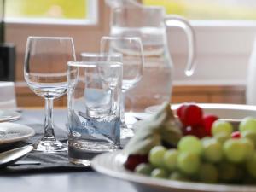
[[[85,166],[120,147],[122,63],[111,55],[94,57],[68,62],[68,158]]]

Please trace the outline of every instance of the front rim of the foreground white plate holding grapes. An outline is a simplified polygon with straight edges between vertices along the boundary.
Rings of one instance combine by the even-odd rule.
[[[256,186],[250,186],[250,185],[236,185],[236,184],[211,184],[211,183],[192,183],[192,182],[182,182],[182,181],[172,181],[167,179],[160,179],[160,178],[153,178],[153,177],[147,177],[143,175],[138,175],[133,172],[130,172],[128,170],[125,170],[125,172],[119,172],[114,171],[111,168],[104,167],[101,164],[101,161],[105,161],[105,164],[108,162],[106,160],[112,160],[112,164],[114,162],[119,163],[119,166],[122,166],[120,162],[118,162],[116,159],[119,158],[118,156],[122,155],[125,157],[124,151],[116,151],[111,153],[105,153],[105,154],[99,154],[97,155],[91,162],[91,166],[94,170],[97,172],[101,172],[102,174],[108,175],[110,177],[115,177],[119,179],[123,179],[126,182],[131,183],[140,183],[145,184],[147,186],[154,186],[154,187],[161,187],[166,189],[177,189],[177,190],[183,190],[183,191],[197,191],[197,192],[226,192],[226,191],[232,191],[232,192],[241,192],[241,191],[247,191],[247,192],[255,192]],[[109,162],[108,162],[109,165]],[[116,165],[116,164],[115,164]],[[124,169],[125,167],[122,166]]]

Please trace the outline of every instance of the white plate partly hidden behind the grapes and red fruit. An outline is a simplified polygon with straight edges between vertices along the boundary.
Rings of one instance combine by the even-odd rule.
[[[172,110],[176,110],[181,104],[172,104]],[[256,106],[238,105],[238,104],[213,104],[213,103],[196,103],[201,107],[205,114],[215,114],[220,119],[229,121],[240,121],[241,119],[251,116],[256,118]],[[156,113],[160,106],[151,106],[145,109],[146,113]]]

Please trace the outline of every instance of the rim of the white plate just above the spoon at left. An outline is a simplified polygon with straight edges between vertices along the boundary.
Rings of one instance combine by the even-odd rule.
[[[3,124],[12,124],[12,125],[21,125],[21,129],[26,129],[28,131],[30,131],[29,133],[27,133],[26,135],[23,135],[23,136],[19,136],[19,137],[15,137],[15,138],[10,138],[10,139],[1,139],[0,138],[0,145],[1,144],[7,144],[7,143],[15,143],[15,142],[20,142],[20,141],[23,141],[29,137],[32,137],[35,135],[35,131],[34,129],[32,129],[32,127],[28,126],[28,125],[22,125],[22,124],[17,124],[17,123],[10,123],[10,122],[3,122],[3,123],[0,123],[0,127],[1,125]],[[25,128],[26,127],[26,128]],[[1,129],[1,128],[0,128]],[[20,128],[19,128],[20,129]]]

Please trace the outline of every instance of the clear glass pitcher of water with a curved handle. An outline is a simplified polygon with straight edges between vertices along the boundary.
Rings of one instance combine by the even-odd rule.
[[[166,28],[178,26],[186,33],[188,61],[185,73],[190,76],[195,63],[195,32],[188,20],[178,15],[166,15],[163,7],[145,7],[135,4],[113,8],[110,25],[111,36],[137,36],[143,42],[143,78],[126,94],[126,100],[130,100],[132,111],[143,111],[149,106],[170,101],[173,65],[168,49]],[[119,49],[125,55],[125,46]]]

